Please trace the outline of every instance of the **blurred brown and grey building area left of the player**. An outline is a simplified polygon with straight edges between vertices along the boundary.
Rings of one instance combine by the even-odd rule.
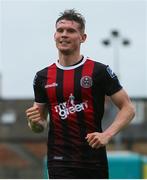
[[[0,179],[43,177],[47,132],[28,128],[25,110],[32,104],[26,99],[0,101]]]

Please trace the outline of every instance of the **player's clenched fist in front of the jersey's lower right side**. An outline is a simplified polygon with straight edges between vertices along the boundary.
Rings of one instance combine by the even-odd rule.
[[[96,148],[96,149],[107,145],[109,142],[109,138],[103,132],[89,133],[86,136],[86,140],[92,148]]]

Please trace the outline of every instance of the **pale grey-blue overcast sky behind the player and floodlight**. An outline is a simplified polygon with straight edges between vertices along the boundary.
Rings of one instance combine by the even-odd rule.
[[[114,68],[113,48],[103,38],[118,29],[129,38],[119,46],[120,80],[132,97],[147,97],[147,2],[144,0],[3,0],[0,69],[2,97],[33,97],[35,72],[57,59],[53,33],[59,13],[75,8],[86,18],[88,39],[83,54]]]

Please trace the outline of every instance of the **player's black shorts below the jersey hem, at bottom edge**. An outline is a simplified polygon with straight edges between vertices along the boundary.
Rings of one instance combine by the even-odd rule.
[[[76,168],[76,167],[50,167],[49,179],[108,179],[108,169]]]

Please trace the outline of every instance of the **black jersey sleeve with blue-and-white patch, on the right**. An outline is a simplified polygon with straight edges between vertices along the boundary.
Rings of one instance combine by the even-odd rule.
[[[111,96],[122,89],[122,86],[118,80],[116,74],[111,70],[109,66],[104,70],[104,90],[105,94]]]

